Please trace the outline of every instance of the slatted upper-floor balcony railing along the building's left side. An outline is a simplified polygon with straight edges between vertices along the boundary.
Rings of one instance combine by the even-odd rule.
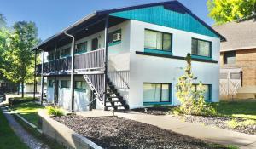
[[[105,49],[97,49],[84,54],[74,55],[74,72],[85,74],[104,71]],[[44,63],[44,75],[69,74],[72,70],[72,57]],[[42,64],[36,66],[36,75],[41,75]]]

